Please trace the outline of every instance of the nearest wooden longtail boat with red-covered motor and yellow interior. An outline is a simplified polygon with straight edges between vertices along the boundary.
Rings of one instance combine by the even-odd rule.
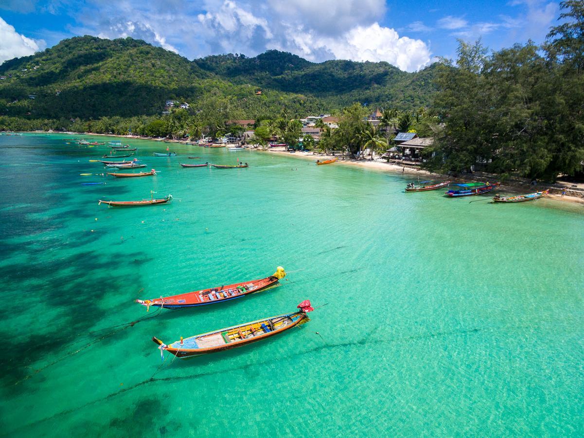
[[[158,344],[158,349],[163,357],[164,351],[168,351],[176,357],[184,358],[215,353],[215,351],[230,350],[267,339],[274,336],[274,334],[285,332],[292,327],[310,321],[307,313],[314,310],[310,301],[306,299],[296,307],[300,309],[298,312],[258,319],[237,326],[215,330],[214,332],[197,334],[186,339],[180,337],[180,340],[169,345],[164,344],[155,336],[152,337],[152,340]]]

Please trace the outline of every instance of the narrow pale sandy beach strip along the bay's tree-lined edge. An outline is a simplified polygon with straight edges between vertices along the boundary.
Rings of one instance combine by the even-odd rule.
[[[44,133],[44,134],[71,134],[71,135],[86,135],[86,136],[104,136],[104,137],[121,137],[121,138],[126,138],[126,139],[134,139],[134,140],[151,140],[152,142],[160,142],[160,143],[181,143],[181,144],[187,144],[189,143],[187,140],[166,140],[164,138],[159,138],[159,137],[142,137],[142,136],[138,136],[138,135],[133,135],[133,134],[127,134],[127,135],[121,135],[121,134],[98,134],[98,133],[93,133],[93,132],[86,132],[86,133],[79,133],[79,132],[39,132],[39,131],[21,131],[22,133],[27,133],[27,134],[40,134],[40,133]],[[190,145],[189,145],[190,146]],[[196,146],[196,145],[193,145]],[[331,159],[331,158],[341,158],[341,156],[339,155],[327,155],[327,154],[314,154],[314,152],[302,152],[302,151],[296,151],[295,153],[290,153],[287,152],[286,150],[282,150],[280,148],[274,148],[274,149],[256,149],[255,147],[251,147],[248,149],[252,149],[254,151],[258,151],[258,152],[263,152],[263,153],[271,153],[271,154],[276,154],[279,156],[285,156],[285,157],[293,157],[293,158],[299,158],[301,160],[319,160],[324,158],[325,160]],[[335,164],[340,164],[340,165],[349,165],[349,166],[354,166],[354,167],[360,167],[363,169],[367,169],[367,170],[376,170],[376,171],[383,171],[383,172],[388,172],[391,174],[397,174],[397,175],[424,175],[425,177],[432,177],[434,180],[442,180],[445,181],[447,180],[448,177],[446,177],[446,175],[442,175],[442,174],[435,174],[432,172],[429,172],[427,170],[423,170],[420,168],[416,168],[416,167],[407,167],[407,166],[401,166],[401,165],[397,165],[397,164],[392,164],[392,163],[387,163],[384,161],[376,161],[376,160],[355,160],[352,158],[342,158],[339,161],[337,161]],[[487,179],[485,177],[481,177],[480,174],[474,175],[473,178],[450,178],[451,181],[457,181],[457,182],[471,182],[471,181],[477,181],[477,180],[481,180],[481,179]],[[491,175],[491,180],[493,180],[493,175]],[[547,187],[545,187],[547,186]],[[542,190],[550,190],[550,193],[543,196],[542,199],[550,199],[552,201],[561,201],[561,202],[569,202],[571,204],[583,204],[584,205],[584,195],[583,197],[579,197],[579,196],[571,196],[571,195],[565,195],[563,198],[561,197],[560,194],[558,193],[552,193],[551,191],[558,191],[558,188],[555,187],[551,187],[550,185],[540,185],[539,187],[534,187],[531,188],[531,186],[528,185],[528,187],[524,187],[524,184],[509,184],[509,182],[507,182],[506,184],[502,184],[500,185],[500,188],[502,188],[503,190],[513,193],[513,194],[524,194],[525,192],[531,192],[531,191],[542,191]],[[569,191],[569,188],[568,188]]]

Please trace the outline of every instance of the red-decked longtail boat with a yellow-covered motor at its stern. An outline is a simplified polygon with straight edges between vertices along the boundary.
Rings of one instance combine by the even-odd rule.
[[[186,294],[161,296],[160,298],[145,300],[137,299],[136,302],[146,306],[146,309],[150,309],[150,306],[162,307],[165,309],[182,309],[185,307],[217,304],[263,291],[264,289],[273,286],[284,277],[286,277],[286,271],[284,271],[283,267],[279,266],[276,268],[275,273],[269,277],[260,278],[259,280],[249,280],[221,287],[201,289],[200,291],[187,292]]]

